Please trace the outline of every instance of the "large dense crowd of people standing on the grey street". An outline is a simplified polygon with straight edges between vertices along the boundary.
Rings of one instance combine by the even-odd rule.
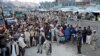
[[[96,31],[90,26],[81,27],[70,25],[62,21],[61,16],[53,14],[35,14],[34,19],[17,19],[17,22],[9,25],[4,34],[0,35],[0,48],[2,56],[25,56],[26,48],[37,47],[37,53],[45,50],[46,55],[52,53],[52,43],[65,44],[77,43],[77,52],[81,54],[82,44],[92,44],[96,49]],[[47,15],[47,16],[45,16]],[[56,18],[56,19],[55,19]]]

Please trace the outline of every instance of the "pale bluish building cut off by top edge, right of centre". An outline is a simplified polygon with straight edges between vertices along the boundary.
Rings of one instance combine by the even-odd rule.
[[[95,0],[93,0],[95,1]],[[98,0],[100,1],[100,0]],[[91,0],[56,0],[56,3],[67,5],[67,6],[74,6],[74,5],[87,5],[91,3]]]

